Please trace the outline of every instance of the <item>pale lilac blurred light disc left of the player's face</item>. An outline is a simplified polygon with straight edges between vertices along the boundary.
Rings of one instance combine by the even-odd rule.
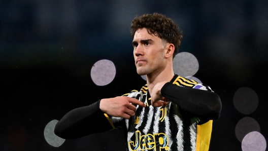
[[[115,78],[115,65],[110,60],[99,60],[91,68],[91,79],[97,86],[110,84]]]

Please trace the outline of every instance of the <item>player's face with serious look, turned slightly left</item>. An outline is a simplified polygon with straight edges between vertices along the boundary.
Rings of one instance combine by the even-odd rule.
[[[164,42],[146,28],[138,29],[133,37],[133,55],[137,72],[140,75],[152,74],[163,70]]]

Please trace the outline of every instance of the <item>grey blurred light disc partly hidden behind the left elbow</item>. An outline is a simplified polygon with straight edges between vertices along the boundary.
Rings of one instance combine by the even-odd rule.
[[[58,147],[60,145],[63,144],[63,142],[65,141],[65,139],[62,139],[60,137],[58,137],[55,133],[54,133],[54,129],[55,129],[55,125],[58,123],[58,120],[52,120],[50,121],[44,130],[44,136],[46,141],[54,147]]]

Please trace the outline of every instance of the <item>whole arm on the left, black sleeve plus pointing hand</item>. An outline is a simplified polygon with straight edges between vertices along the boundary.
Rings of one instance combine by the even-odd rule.
[[[136,107],[145,104],[135,98],[119,96],[71,110],[56,124],[54,133],[64,139],[74,139],[112,129],[104,114],[129,119],[135,115]]]

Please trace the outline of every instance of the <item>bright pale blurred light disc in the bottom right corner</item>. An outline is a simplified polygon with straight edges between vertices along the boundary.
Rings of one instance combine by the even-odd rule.
[[[264,151],[266,149],[266,140],[259,132],[248,133],[242,141],[243,151]]]

